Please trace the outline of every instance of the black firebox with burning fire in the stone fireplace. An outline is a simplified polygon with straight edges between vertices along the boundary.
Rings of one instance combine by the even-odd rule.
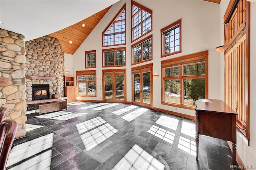
[[[32,84],[32,100],[50,99],[48,84]]]

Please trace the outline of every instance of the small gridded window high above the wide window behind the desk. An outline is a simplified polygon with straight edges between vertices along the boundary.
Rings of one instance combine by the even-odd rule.
[[[181,53],[181,19],[161,30],[161,57]]]

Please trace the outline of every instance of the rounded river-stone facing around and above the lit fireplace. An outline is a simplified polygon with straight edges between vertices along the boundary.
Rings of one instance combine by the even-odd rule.
[[[64,52],[58,39],[44,36],[25,42],[26,76],[37,76],[37,79],[26,79],[26,100],[32,100],[32,84],[49,84],[50,97],[53,94],[64,95]],[[40,77],[40,78],[39,78]],[[43,77],[55,77],[54,80]]]

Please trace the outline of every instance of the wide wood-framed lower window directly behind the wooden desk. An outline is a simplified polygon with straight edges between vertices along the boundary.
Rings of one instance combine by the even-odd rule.
[[[162,104],[194,107],[208,98],[208,51],[162,61]]]

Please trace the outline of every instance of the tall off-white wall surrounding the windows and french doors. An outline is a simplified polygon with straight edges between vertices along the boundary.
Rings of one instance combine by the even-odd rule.
[[[220,5],[206,1],[198,0],[150,0],[136,2],[153,10],[152,28],[153,31],[153,60],[139,65],[144,65],[153,62],[153,74],[161,74],[161,60],[188,55],[204,50],[209,50],[209,98],[221,99],[223,93],[220,86],[220,61],[223,59],[220,53],[216,52],[215,47],[223,42],[220,40]],[[74,53],[74,74],[77,70],[84,69],[84,51],[96,49],[96,77],[102,78],[102,49],[109,47],[102,47],[102,31],[110,23],[112,18],[126,3],[126,45],[119,45],[114,47],[126,47],[126,67],[111,67],[110,69],[126,68],[127,71],[127,101],[131,101],[132,97],[132,75],[131,75],[131,3],[130,1],[119,1],[110,8],[107,14],[102,18],[98,25],[94,28],[91,34],[86,38],[78,50]],[[182,53],[161,58],[160,49],[160,29],[172,24],[176,20],[182,18]],[[150,35],[149,34],[149,35]],[[149,36],[147,35],[147,36]],[[143,37],[145,38],[145,37]],[[143,39],[141,38],[141,39]],[[141,40],[139,39],[139,40]],[[139,41],[137,40],[137,41]],[[137,42],[136,41],[136,42]],[[134,43],[136,43],[134,42]],[[87,69],[90,70],[90,69]],[[188,109],[181,109],[161,105],[161,79],[153,78],[153,106],[166,109],[182,114],[195,115],[195,112]],[[77,97],[77,99],[84,100],[102,100],[102,80],[97,81],[97,97]]]

